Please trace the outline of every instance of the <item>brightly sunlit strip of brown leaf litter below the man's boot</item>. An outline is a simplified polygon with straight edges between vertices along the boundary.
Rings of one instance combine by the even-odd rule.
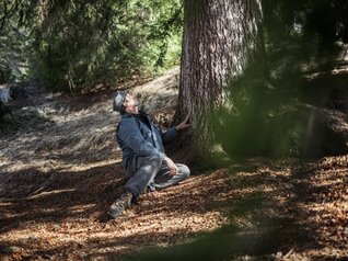
[[[61,248],[62,246],[65,248],[79,248],[80,256],[84,257],[84,251],[85,254],[114,251],[115,254],[119,254],[128,249],[125,242],[131,249],[138,247],[139,243],[166,245],[186,238],[189,235],[214,230],[228,224],[228,218],[219,211],[209,211],[210,207],[207,209],[209,202],[195,203],[195,198],[192,202],[192,200],[185,198],[186,196],[181,195],[177,191],[186,186],[189,192],[187,186],[199,186],[199,182],[202,182],[200,178],[204,178],[205,181],[209,180],[207,177],[197,177],[197,179],[193,177],[182,185],[158,192],[156,197],[151,193],[144,194],[140,197],[139,205],[129,208],[119,219],[111,220],[109,223],[101,223],[95,216],[101,211],[105,211],[106,206],[104,209],[100,208],[101,205],[94,204],[80,204],[66,207],[66,209],[59,209],[58,206],[44,208],[37,215],[57,216],[56,222],[47,219],[45,223],[39,223],[35,218],[22,222],[18,228],[3,231],[0,236],[0,241],[2,238],[2,240],[5,239],[13,245],[21,242],[24,253],[37,249],[37,245],[45,247],[47,250]],[[66,192],[68,191],[73,192],[74,190],[67,190]],[[32,196],[31,200],[39,200],[40,195],[54,196],[58,192],[62,193],[63,191],[57,190],[42,193]],[[197,196],[201,196],[199,191],[197,193]],[[178,198],[173,201],[172,197],[175,195]],[[62,198],[69,200],[69,197]],[[185,201],[189,201],[190,204],[181,208],[179,205],[185,204]],[[198,213],[195,211],[195,204],[198,207]],[[199,204],[201,204],[202,208],[200,208]],[[169,207],[163,208],[164,205]],[[98,209],[97,213],[92,214],[92,216],[84,215],[86,211],[95,206]],[[61,211],[67,212],[68,215],[60,219],[59,213]],[[78,215],[74,216],[73,214]],[[96,241],[98,242],[98,249],[92,247]],[[107,247],[104,248],[101,245],[102,242],[105,242]]]

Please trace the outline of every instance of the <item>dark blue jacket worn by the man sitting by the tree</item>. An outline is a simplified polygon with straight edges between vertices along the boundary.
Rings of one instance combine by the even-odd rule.
[[[116,128],[116,140],[123,150],[123,167],[126,169],[128,161],[136,156],[158,156],[163,160],[163,144],[177,135],[175,127],[162,132],[143,112],[124,114]]]

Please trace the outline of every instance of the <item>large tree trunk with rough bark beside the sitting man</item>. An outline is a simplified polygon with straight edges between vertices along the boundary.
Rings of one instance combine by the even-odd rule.
[[[177,116],[190,112],[195,144],[210,146],[209,117],[228,87],[264,54],[259,0],[185,0]],[[263,67],[263,66],[260,66]]]

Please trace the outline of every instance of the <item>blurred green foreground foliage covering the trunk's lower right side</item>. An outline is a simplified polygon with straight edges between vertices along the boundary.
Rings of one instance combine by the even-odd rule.
[[[298,155],[304,128],[297,99],[291,89],[277,88],[250,75],[233,84],[232,109],[221,106],[213,121],[217,141],[230,157]]]

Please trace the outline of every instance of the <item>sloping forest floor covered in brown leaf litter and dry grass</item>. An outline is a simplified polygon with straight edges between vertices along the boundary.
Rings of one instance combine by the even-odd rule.
[[[177,79],[176,68],[123,88],[163,123]],[[125,183],[113,91],[23,88],[0,137],[0,260],[348,259],[348,155],[194,170],[113,220],[106,211]]]

